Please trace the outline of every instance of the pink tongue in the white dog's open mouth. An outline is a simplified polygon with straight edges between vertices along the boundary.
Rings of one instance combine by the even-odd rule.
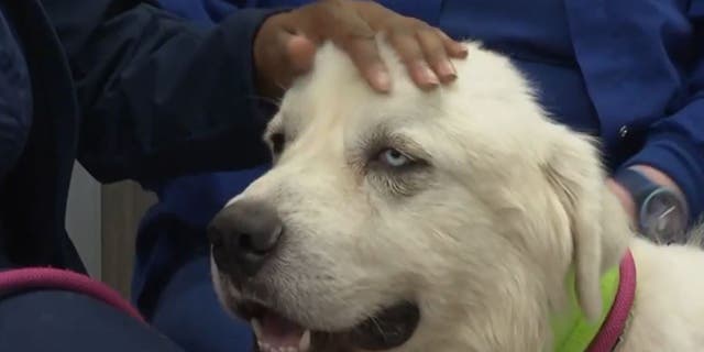
[[[310,331],[273,312],[252,319],[261,352],[307,352]]]

